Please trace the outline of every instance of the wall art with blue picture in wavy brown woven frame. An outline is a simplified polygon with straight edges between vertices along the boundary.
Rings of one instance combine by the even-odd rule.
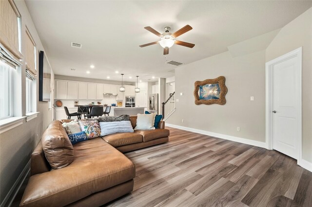
[[[220,104],[226,103],[225,94],[228,88],[225,86],[225,77],[196,81],[194,89],[195,104]]]

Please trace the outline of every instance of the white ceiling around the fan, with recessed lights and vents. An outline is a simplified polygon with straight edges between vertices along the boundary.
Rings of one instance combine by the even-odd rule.
[[[188,64],[281,28],[312,1],[26,0],[26,5],[55,74],[120,81],[125,73],[124,81],[136,75],[147,81],[174,76],[178,67],[168,61]],[[193,49],[174,45],[165,57],[159,44],[139,47],[159,39],[146,26],[159,33],[169,26],[173,33],[186,24],[193,30],[176,39],[194,43]]]

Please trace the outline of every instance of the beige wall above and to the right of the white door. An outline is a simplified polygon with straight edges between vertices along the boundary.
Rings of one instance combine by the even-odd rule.
[[[302,47],[302,158],[312,163],[312,8],[283,27],[266,50],[266,62]]]

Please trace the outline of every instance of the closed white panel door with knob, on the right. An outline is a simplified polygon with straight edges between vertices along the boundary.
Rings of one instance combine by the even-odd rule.
[[[273,66],[273,149],[298,159],[298,58]]]

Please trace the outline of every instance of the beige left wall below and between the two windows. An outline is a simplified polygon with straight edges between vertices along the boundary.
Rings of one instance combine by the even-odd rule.
[[[22,51],[25,53],[25,29],[26,25],[31,33],[37,48],[37,66],[39,66],[39,51],[44,51],[44,48],[39,39],[39,35],[30,17],[26,4],[22,0],[15,1],[16,6],[21,14],[21,31],[22,31]],[[25,57],[25,55],[24,55]],[[47,54],[47,57],[48,54]],[[22,66],[18,69],[20,73],[19,78],[14,77],[14,92],[22,94],[21,98],[15,100],[14,110],[17,112],[15,116],[25,116],[26,111],[26,90],[25,90],[25,61],[22,61]],[[41,135],[43,130],[52,121],[52,111],[49,111],[49,105],[47,102],[39,102],[39,75],[37,75],[37,111],[40,113],[36,119],[26,122],[15,127],[12,130],[4,132],[0,135],[0,203],[2,205],[5,197],[17,181],[18,177],[26,167],[30,160],[30,155],[33,152],[34,147],[39,140],[36,136]],[[51,80],[54,81],[54,80]]]

